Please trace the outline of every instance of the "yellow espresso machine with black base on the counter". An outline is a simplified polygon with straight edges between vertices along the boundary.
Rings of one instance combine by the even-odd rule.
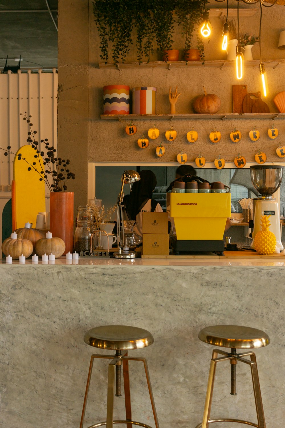
[[[223,253],[230,193],[167,193],[167,211],[176,255],[181,251]]]

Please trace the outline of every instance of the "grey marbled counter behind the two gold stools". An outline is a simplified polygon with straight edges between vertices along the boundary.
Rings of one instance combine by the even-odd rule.
[[[97,325],[129,324],[150,330],[155,339],[131,354],[147,357],[160,427],[194,428],[202,420],[212,355],[198,332],[238,324],[270,336],[270,345],[256,351],[259,379],[267,428],[283,428],[282,260],[96,263],[0,265],[0,425],[79,427],[90,356],[103,352],[85,345],[84,333]],[[217,369],[211,416],[256,421],[244,366],[237,366],[236,396],[230,395],[230,365]],[[95,362],[85,427],[106,420],[106,375],[106,361]],[[130,363],[130,382],[133,419],[153,425],[141,363]],[[123,397],[115,397],[115,418],[123,417],[123,405]]]

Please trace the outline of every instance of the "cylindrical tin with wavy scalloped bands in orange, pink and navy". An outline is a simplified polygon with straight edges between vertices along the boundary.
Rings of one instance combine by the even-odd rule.
[[[129,86],[103,86],[104,114],[129,114]]]

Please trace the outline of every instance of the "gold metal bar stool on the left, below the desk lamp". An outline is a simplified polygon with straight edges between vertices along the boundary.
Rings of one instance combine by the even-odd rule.
[[[152,428],[142,422],[132,421],[131,410],[131,395],[129,387],[129,361],[142,361],[144,363],[144,371],[147,378],[147,386],[150,394],[150,402],[153,410],[153,417],[156,428],[159,428],[159,422],[156,414],[156,407],[153,399],[153,391],[150,384],[150,375],[147,368],[147,359],[139,357],[128,357],[128,351],[131,349],[144,348],[153,343],[153,336],[149,331],[138,327],[131,327],[128,325],[105,325],[95,327],[89,330],[84,335],[84,342],[87,345],[94,346],[101,349],[112,349],[116,351],[115,355],[93,354],[91,355],[82,416],[80,421],[80,428],[83,428],[85,409],[88,398],[88,391],[90,386],[90,379],[92,374],[94,358],[106,358],[112,360],[108,366],[108,391],[107,391],[107,416],[105,422],[99,422],[90,425],[88,428],[95,428],[106,425],[106,428],[112,428],[113,424],[126,424],[127,428],[132,425],[139,425],[145,428]],[[123,351],[123,352],[121,352]],[[113,420],[114,412],[114,392],[116,396],[120,396],[120,369],[123,366],[123,384],[125,393],[125,407],[126,407],[126,420]],[[116,369],[116,370],[115,370]],[[116,375],[115,375],[116,372]]]

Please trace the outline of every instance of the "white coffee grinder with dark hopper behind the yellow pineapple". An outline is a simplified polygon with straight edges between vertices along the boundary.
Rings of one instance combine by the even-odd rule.
[[[261,215],[270,215],[269,230],[276,237],[276,247],[282,251],[280,231],[280,207],[272,194],[279,189],[282,183],[283,166],[280,165],[253,165],[250,166],[250,177],[253,186],[256,188],[259,196],[254,199],[253,205],[253,240],[251,247],[254,250],[254,237],[261,230]]]

